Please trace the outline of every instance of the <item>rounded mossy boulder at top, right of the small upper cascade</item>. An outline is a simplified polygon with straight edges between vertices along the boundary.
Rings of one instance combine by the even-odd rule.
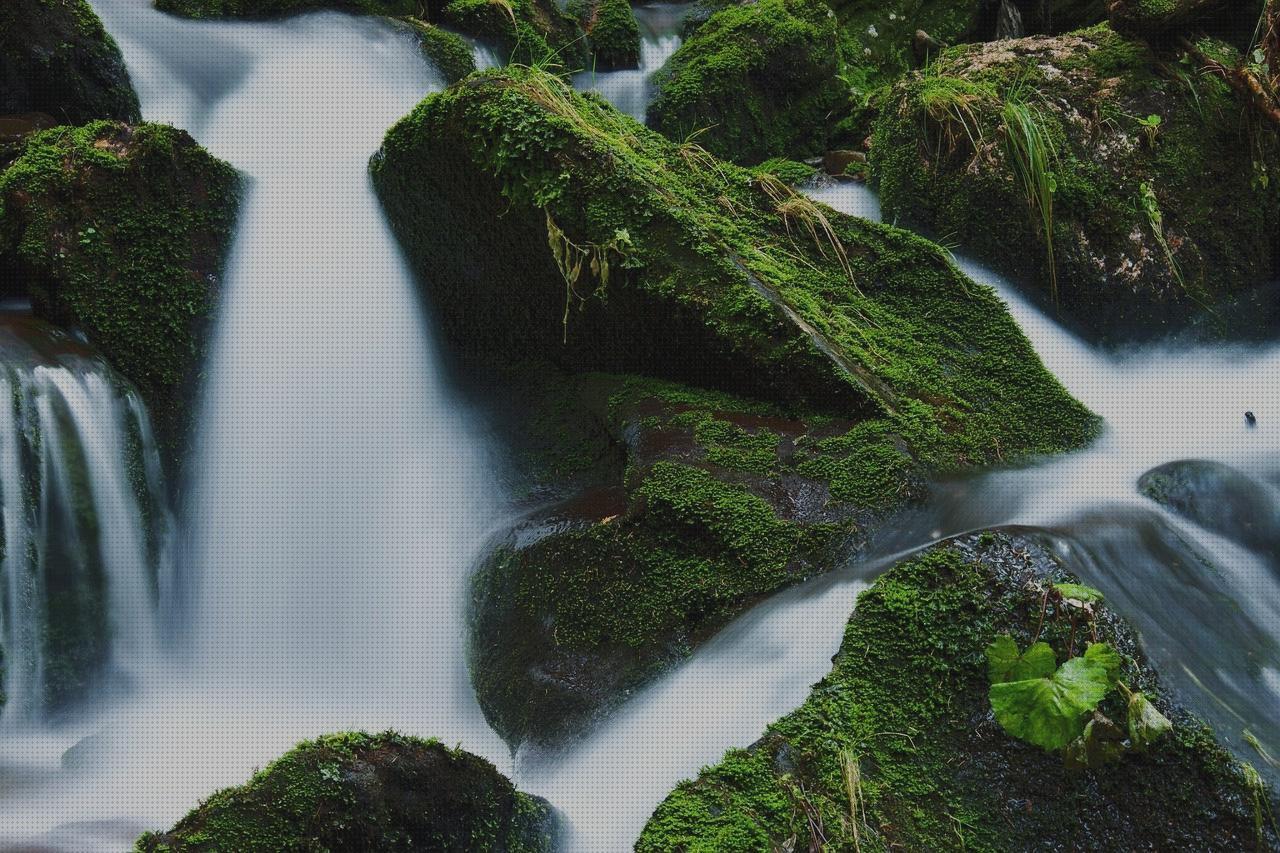
[[[648,124],[753,164],[822,154],[846,100],[836,20],[818,0],[717,12],[655,77]]]

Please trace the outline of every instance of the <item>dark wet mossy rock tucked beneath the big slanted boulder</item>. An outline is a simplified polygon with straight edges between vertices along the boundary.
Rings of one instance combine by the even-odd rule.
[[[580,459],[603,476],[517,525],[474,581],[476,693],[511,743],[582,730],[751,602],[838,565],[924,493],[883,421],[787,416],[640,377],[554,383],[544,406],[571,416],[547,419],[562,429],[544,446],[564,452],[539,461]],[[539,430],[543,419],[530,420]],[[536,470],[571,480],[582,469]]]

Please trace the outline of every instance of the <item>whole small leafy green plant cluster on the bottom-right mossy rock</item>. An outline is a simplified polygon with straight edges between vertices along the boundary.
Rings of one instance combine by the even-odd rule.
[[[1126,752],[1143,751],[1172,727],[1140,690],[1120,679],[1120,654],[1097,642],[1093,607],[1102,593],[1082,584],[1053,584],[1044,592],[1071,613],[1071,639],[1061,666],[1052,647],[1039,640],[1039,630],[1025,651],[1005,634],[987,647],[991,707],[1010,735],[1050,752],[1061,752],[1068,767],[1100,767],[1120,761]],[[1073,656],[1076,622],[1088,624],[1093,642]],[[1044,626],[1043,612],[1041,629]],[[1098,707],[1119,690],[1125,704],[1126,729]]]

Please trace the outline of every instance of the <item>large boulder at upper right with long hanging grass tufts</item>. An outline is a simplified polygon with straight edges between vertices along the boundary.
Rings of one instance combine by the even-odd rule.
[[[1027,127],[1050,163],[1033,186],[1056,184],[1034,205]],[[1276,273],[1280,138],[1220,77],[1106,26],[945,51],[893,88],[870,159],[887,219],[951,236],[1091,336],[1164,334]]]

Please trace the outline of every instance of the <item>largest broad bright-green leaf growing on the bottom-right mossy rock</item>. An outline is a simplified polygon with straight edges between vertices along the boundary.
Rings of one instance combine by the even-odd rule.
[[[1015,738],[1061,749],[1084,731],[1084,716],[1111,689],[1105,665],[1083,657],[1062,663],[1052,678],[991,685],[991,707]]]

